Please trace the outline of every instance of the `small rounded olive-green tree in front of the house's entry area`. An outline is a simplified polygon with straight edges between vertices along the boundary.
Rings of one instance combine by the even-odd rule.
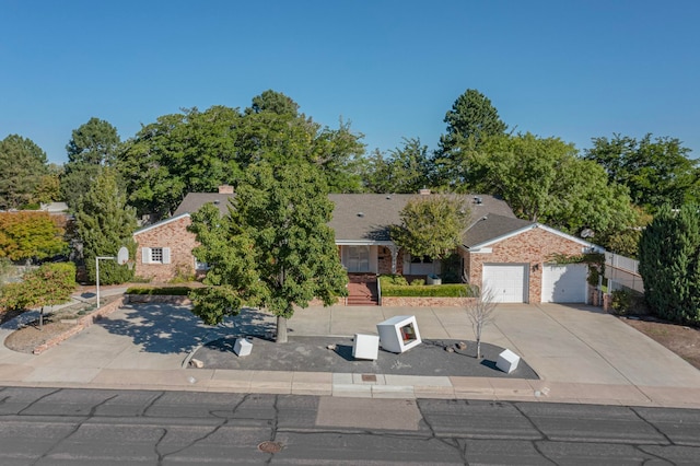
[[[413,256],[444,259],[462,244],[469,210],[456,196],[423,196],[409,200],[401,224],[392,226],[392,240]]]

